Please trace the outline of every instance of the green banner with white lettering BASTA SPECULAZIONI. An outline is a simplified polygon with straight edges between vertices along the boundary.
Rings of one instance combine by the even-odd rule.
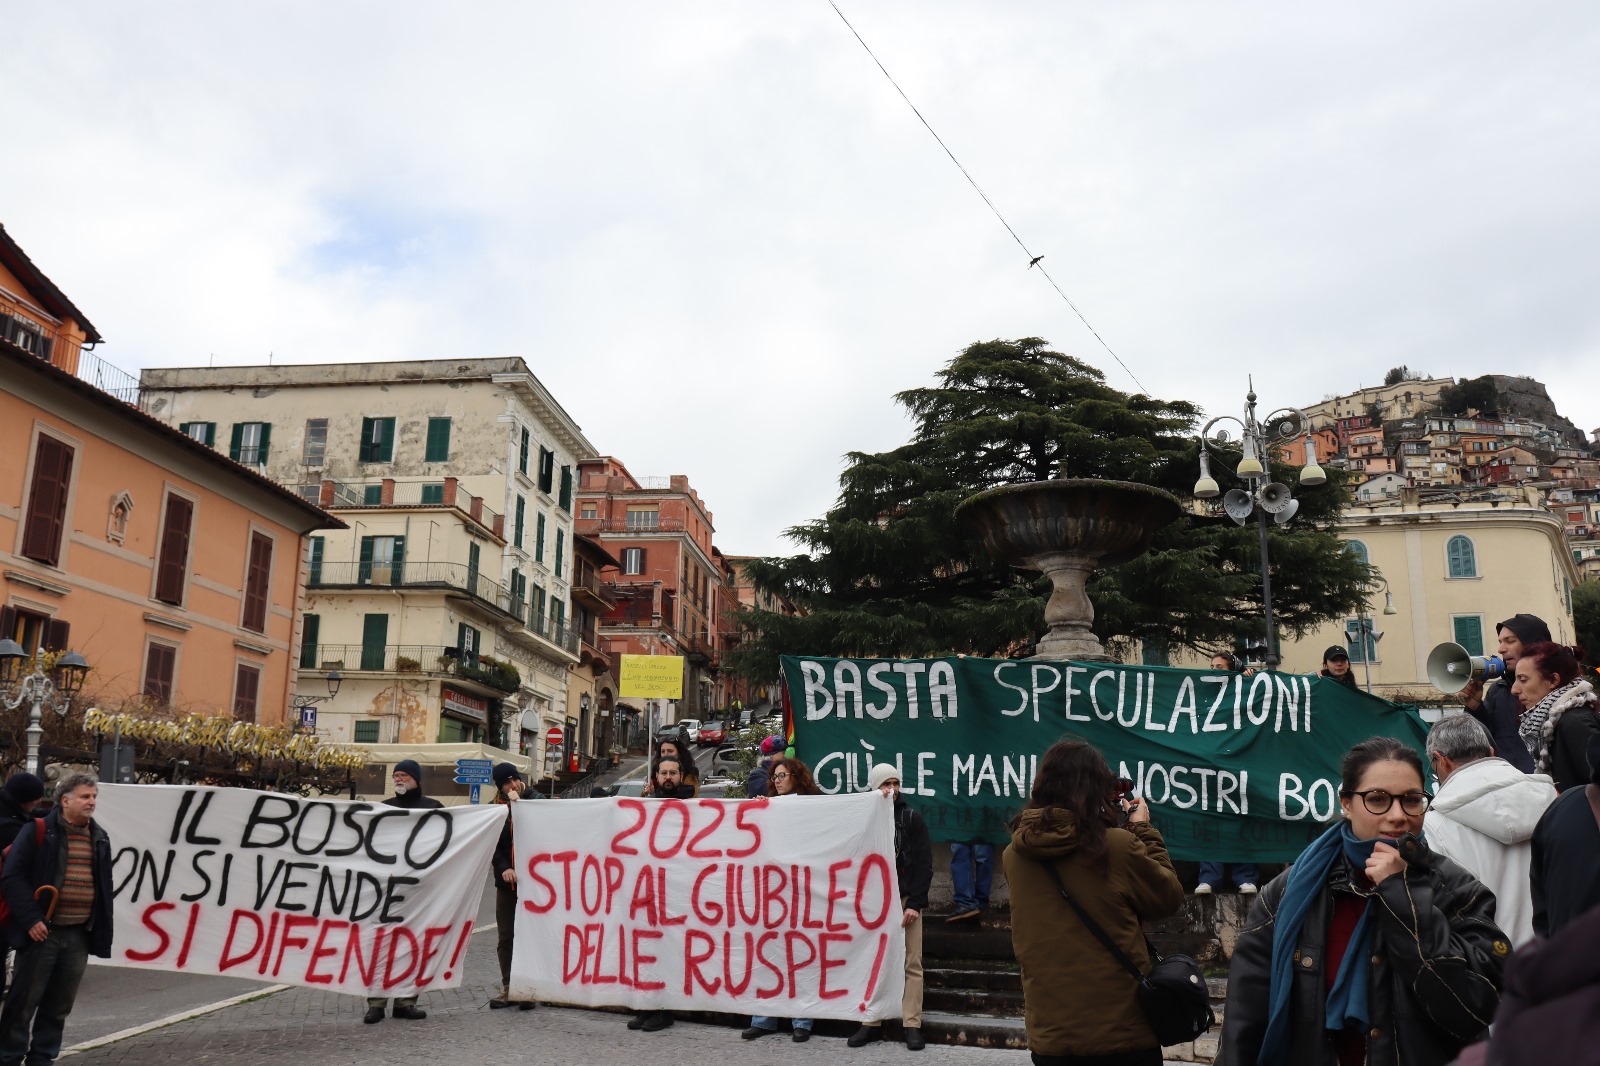
[[[934,840],[1003,842],[1064,733],[1150,804],[1173,858],[1286,863],[1339,813],[1368,736],[1422,752],[1414,712],[1325,677],[1037,659],[784,656],[795,754],[824,792],[894,763]]]

